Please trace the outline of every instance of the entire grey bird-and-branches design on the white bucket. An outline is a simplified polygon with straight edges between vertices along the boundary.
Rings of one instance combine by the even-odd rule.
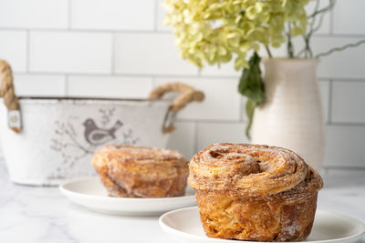
[[[55,121],[50,147],[62,164],[55,167],[52,178],[93,175],[89,165],[92,155],[108,143],[136,145],[140,141],[133,127],[116,117],[115,107],[102,107],[94,116],[69,116]]]

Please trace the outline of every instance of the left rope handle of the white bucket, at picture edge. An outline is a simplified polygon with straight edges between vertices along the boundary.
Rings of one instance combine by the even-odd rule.
[[[0,96],[7,108],[7,124],[16,133],[22,131],[19,99],[16,96],[13,83],[13,72],[5,60],[0,60]]]

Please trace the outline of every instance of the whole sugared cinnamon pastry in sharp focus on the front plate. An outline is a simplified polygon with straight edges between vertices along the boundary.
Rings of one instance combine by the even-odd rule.
[[[308,237],[322,178],[281,147],[214,144],[190,162],[189,184],[211,238],[300,241]]]

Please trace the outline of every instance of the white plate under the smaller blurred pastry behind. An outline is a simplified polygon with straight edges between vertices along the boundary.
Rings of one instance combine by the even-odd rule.
[[[99,177],[70,181],[59,186],[72,202],[94,211],[118,215],[161,215],[164,212],[196,205],[192,187],[183,197],[130,198],[108,197]]]

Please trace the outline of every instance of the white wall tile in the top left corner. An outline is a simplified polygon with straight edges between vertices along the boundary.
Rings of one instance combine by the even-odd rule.
[[[0,0],[0,5],[0,27],[68,27],[68,0]]]

